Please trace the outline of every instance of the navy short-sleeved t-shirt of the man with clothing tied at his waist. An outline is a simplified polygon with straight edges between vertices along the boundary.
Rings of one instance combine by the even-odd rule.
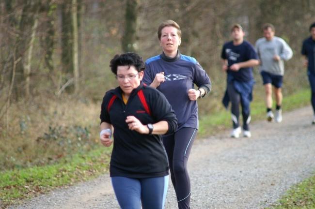
[[[228,61],[228,67],[231,65],[248,60],[258,60],[254,47],[248,42],[243,41],[240,45],[233,45],[233,41],[223,45],[221,58]],[[252,67],[241,68],[239,71],[227,70],[228,78],[238,81],[251,81],[253,79]]]

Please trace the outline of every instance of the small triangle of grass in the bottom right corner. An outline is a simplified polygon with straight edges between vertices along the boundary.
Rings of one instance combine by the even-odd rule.
[[[293,186],[268,209],[315,209],[315,176]]]

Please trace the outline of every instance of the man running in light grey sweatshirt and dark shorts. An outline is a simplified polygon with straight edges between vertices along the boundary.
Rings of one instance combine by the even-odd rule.
[[[255,47],[260,62],[260,74],[266,92],[267,120],[282,121],[282,82],[284,77],[284,60],[293,56],[290,46],[280,37],[275,36],[275,28],[266,23],[263,26],[264,38],[256,41]],[[272,86],[276,98],[275,116],[272,112]]]

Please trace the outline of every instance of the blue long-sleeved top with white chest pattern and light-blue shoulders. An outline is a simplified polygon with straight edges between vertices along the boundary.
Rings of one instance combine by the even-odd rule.
[[[156,74],[161,72],[164,72],[165,81],[160,83],[157,90],[162,92],[172,105],[178,120],[178,129],[198,129],[197,101],[189,100],[188,90],[194,89],[196,84],[208,92],[211,89],[209,76],[196,59],[179,52],[173,59],[161,54],[146,60],[142,81],[150,85]]]

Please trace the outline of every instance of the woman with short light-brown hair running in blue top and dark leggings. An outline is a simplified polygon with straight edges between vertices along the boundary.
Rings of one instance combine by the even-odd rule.
[[[164,21],[157,30],[162,54],[146,60],[143,82],[161,91],[172,105],[178,129],[163,135],[171,179],[178,208],[190,208],[190,180],[187,162],[198,130],[197,99],[211,90],[211,82],[196,59],[182,55],[178,46],[181,30],[173,20]],[[195,90],[194,84],[198,87]]]

